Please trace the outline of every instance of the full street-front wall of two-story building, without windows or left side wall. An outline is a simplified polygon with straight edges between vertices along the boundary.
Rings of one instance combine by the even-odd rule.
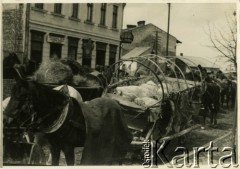
[[[118,22],[117,28],[112,28],[112,13],[113,5],[118,6]],[[84,39],[91,39],[93,41],[93,52],[91,67],[96,66],[96,43],[102,42],[106,44],[105,65],[109,64],[109,48],[110,45],[119,46],[120,31],[123,21],[124,4],[107,4],[106,10],[106,26],[100,25],[100,9],[101,4],[93,4],[93,19],[92,23],[86,22],[87,18],[87,4],[79,4],[78,19],[72,19],[72,4],[62,4],[62,15],[54,15],[54,4],[44,4],[43,10],[35,8],[35,4],[31,4],[30,13],[30,31],[41,31],[44,33],[43,44],[43,61],[49,58],[50,43],[48,36],[50,33],[64,36],[64,43],[62,44],[62,58],[68,56],[68,37],[78,38],[77,61],[82,63],[82,44]],[[29,48],[31,48],[31,33],[29,32]],[[30,49],[31,50],[31,49]],[[29,50],[28,56],[31,57]],[[116,50],[116,61],[118,59],[118,48]]]

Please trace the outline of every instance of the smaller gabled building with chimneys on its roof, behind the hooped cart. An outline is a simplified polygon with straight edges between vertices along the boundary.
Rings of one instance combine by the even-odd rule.
[[[127,25],[123,33],[133,34],[132,43],[123,43],[123,55],[133,50],[136,47],[150,47],[149,53],[154,53],[160,56],[167,55],[167,32],[158,28],[157,26],[145,21],[139,21],[137,25]],[[176,56],[177,44],[182,43],[176,37],[169,35],[168,55]]]

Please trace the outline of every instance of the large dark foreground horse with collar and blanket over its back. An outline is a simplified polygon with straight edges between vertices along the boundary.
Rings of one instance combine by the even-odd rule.
[[[26,131],[46,135],[52,165],[59,165],[61,150],[67,165],[74,165],[74,147],[84,147],[81,165],[103,165],[122,159],[132,134],[117,101],[96,98],[78,102],[68,93],[67,87],[56,91],[17,78],[4,114],[13,119],[25,117],[21,122],[27,126]]]

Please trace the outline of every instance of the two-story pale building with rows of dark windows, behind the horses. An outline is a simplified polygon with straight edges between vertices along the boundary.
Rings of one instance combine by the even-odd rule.
[[[35,3],[15,4],[13,8],[4,5],[3,35],[12,30],[10,26],[16,26],[5,19],[9,13],[17,17],[20,31],[19,36],[16,31],[11,33],[12,38],[7,37],[10,34],[3,36],[5,53],[13,50],[9,48],[10,39],[14,43],[20,39],[21,49],[16,53],[37,65],[51,57],[70,57],[95,68],[118,59],[125,4]],[[15,14],[16,11],[22,15]]]

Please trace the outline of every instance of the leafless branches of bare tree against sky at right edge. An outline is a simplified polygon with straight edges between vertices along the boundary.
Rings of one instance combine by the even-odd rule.
[[[232,62],[237,68],[237,19],[236,12],[226,14],[226,28],[220,25],[208,23],[206,31],[211,45],[208,47],[216,49],[220,56]]]

